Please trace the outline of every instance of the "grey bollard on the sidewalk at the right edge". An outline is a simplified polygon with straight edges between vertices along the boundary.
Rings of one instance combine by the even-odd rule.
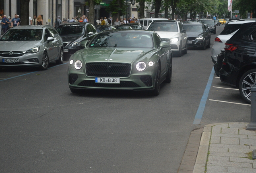
[[[256,85],[251,88],[251,122],[246,130],[256,130]]]

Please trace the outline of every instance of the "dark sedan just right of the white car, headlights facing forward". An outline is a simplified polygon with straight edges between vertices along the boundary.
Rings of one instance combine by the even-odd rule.
[[[188,35],[188,47],[210,48],[211,33],[205,24],[190,23],[182,25]]]

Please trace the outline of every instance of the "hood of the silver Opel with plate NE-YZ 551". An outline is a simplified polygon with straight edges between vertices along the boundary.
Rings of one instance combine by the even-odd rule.
[[[27,51],[41,45],[41,41],[0,41],[0,51]]]

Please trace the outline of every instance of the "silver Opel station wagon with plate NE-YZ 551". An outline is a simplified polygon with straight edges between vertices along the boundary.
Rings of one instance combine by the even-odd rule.
[[[25,66],[46,70],[50,62],[63,63],[63,41],[52,26],[15,26],[0,38],[0,45],[0,68]]]

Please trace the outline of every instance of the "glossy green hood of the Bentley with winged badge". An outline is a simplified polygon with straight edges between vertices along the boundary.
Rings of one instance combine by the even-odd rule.
[[[147,54],[152,48],[85,48],[83,56],[88,62],[122,62],[132,63]]]

